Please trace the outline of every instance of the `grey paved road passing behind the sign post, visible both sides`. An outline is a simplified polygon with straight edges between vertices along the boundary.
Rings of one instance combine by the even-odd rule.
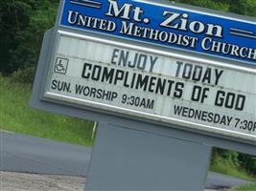
[[[0,131],[0,171],[86,177],[91,149]],[[209,172],[207,188],[247,183]]]

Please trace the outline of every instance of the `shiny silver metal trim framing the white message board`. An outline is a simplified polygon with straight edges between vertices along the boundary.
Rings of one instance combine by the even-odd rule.
[[[217,62],[217,61],[212,61],[212,60],[205,60],[205,59],[199,59],[197,57],[191,57],[191,56],[187,56],[187,55],[181,55],[178,53],[168,53],[165,51],[159,51],[159,50],[152,50],[151,48],[145,48],[145,47],[140,47],[137,46],[135,44],[128,44],[128,43],[122,43],[119,41],[111,41],[111,40],[107,40],[107,39],[101,39],[99,37],[95,37],[92,36],[90,33],[86,34],[86,35],[82,35],[82,34],[78,34],[78,33],[72,33],[72,32],[65,32],[65,31],[60,31],[58,30],[58,34],[56,36],[56,40],[55,40],[55,46],[54,46],[54,50],[56,52],[57,48],[58,48],[58,43],[59,43],[59,37],[60,35],[64,35],[64,36],[69,36],[69,37],[73,37],[73,38],[78,38],[81,40],[87,40],[87,41],[92,41],[92,42],[97,42],[97,43],[102,43],[102,44],[106,44],[106,45],[111,45],[111,46],[115,46],[115,47],[120,47],[120,48],[125,48],[125,49],[131,49],[134,51],[140,51],[143,53],[154,53],[160,56],[164,56],[164,57],[174,57],[177,59],[182,59],[182,60],[186,60],[186,61],[194,61],[197,63],[203,62],[203,63],[207,63],[211,66],[221,66],[222,68],[226,68],[226,69],[232,69],[232,70],[237,70],[237,71],[243,71],[246,73],[251,73],[251,74],[256,74],[256,69],[248,69],[245,67],[240,67],[240,66],[235,66],[235,65],[229,65],[229,64],[225,64],[223,62]],[[53,55],[55,54],[55,52],[53,52]],[[52,65],[50,65],[50,68],[53,68],[53,64],[55,63],[54,60],[54,56],[51,57],[51,61],[50,63],[52,63]],[[51,70],[49,70],[48,74],[47,74],[47,81],[46,81],[46,85],[45,85],[45,90],[43,93],[43,99],[46,101],[59,101],[61,104],[75,104],[75,107],[80,107],[86,110],[91,110],[94,109],[95,111],[99,112],[99,113],[108,113],[110,112],[111,115],[113,116],[120,116],[120,117],[140,117],[139,120],[154,120],[157,121],[159,124],[163,124],[165,126],[170,126],[170,125],[175,125],[175,126],[183,126],[185,128],[188,128],[186,130],[189,131],[198,131],[198,132],[206,132],[208,134],[219,134],[222,136],[226,136],[228,137],[232,137],[232,138],[240,138],[241,141],[244,140],[249,140],[249,141],[255,141],[256,143],[256,137],[255,136],[249,136],[247,134],[243,134],[243,133],[239,133],[239,132],[234,132],[231,130],[224,130],[224,129],[220,129],[217,127],[213,127],[210,125],[203,125],[203,124],[199,124],[199,123],[195,123],[195,122],[190,122],[190,121],[186,121],[186,120],[182,120],[182,119],[175,119],[172,117],[156,117],[155,115],[151,115],[151,114],[147,114],[144,112],[139,112],[139,111],[135,111],[135,110],[129,110],[126,108],[119,108],[119,107],[115,107],[115,106],[110,106],[104,103],[97,103],[97,102],[93,102],[90,100],[79,100],[76,97],[73,98],[69,98],[69,101],[67,101],[68,103],[65,102],[65,100],[67,100],[68,98],[66,96],[60,96],[60,95],[55,95],[52,93],[47,92],[47,87],[50,86],[51,84]],[[82,103],[81,103],[82,102]],[[80,105],[81,104],[81,105]],[[99,109],[102,108],[102,109]],[[117,115],[118,113],[118,115]]]

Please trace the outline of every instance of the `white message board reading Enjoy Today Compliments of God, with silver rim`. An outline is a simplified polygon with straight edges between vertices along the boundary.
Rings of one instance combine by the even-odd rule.
[[[256,141],[255,70],[67,32],[58,38],[45,97]]]

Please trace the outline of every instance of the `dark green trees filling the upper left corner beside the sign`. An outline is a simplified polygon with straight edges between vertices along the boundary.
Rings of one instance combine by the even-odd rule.
[[[43,33],[54,26],[58,0],[0,2],[0,71],[35,66]]]

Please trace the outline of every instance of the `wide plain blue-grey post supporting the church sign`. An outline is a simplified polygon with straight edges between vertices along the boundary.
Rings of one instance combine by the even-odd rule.
[[[100,123],[85,190],[202,191],[210,156],[199,142]]]

